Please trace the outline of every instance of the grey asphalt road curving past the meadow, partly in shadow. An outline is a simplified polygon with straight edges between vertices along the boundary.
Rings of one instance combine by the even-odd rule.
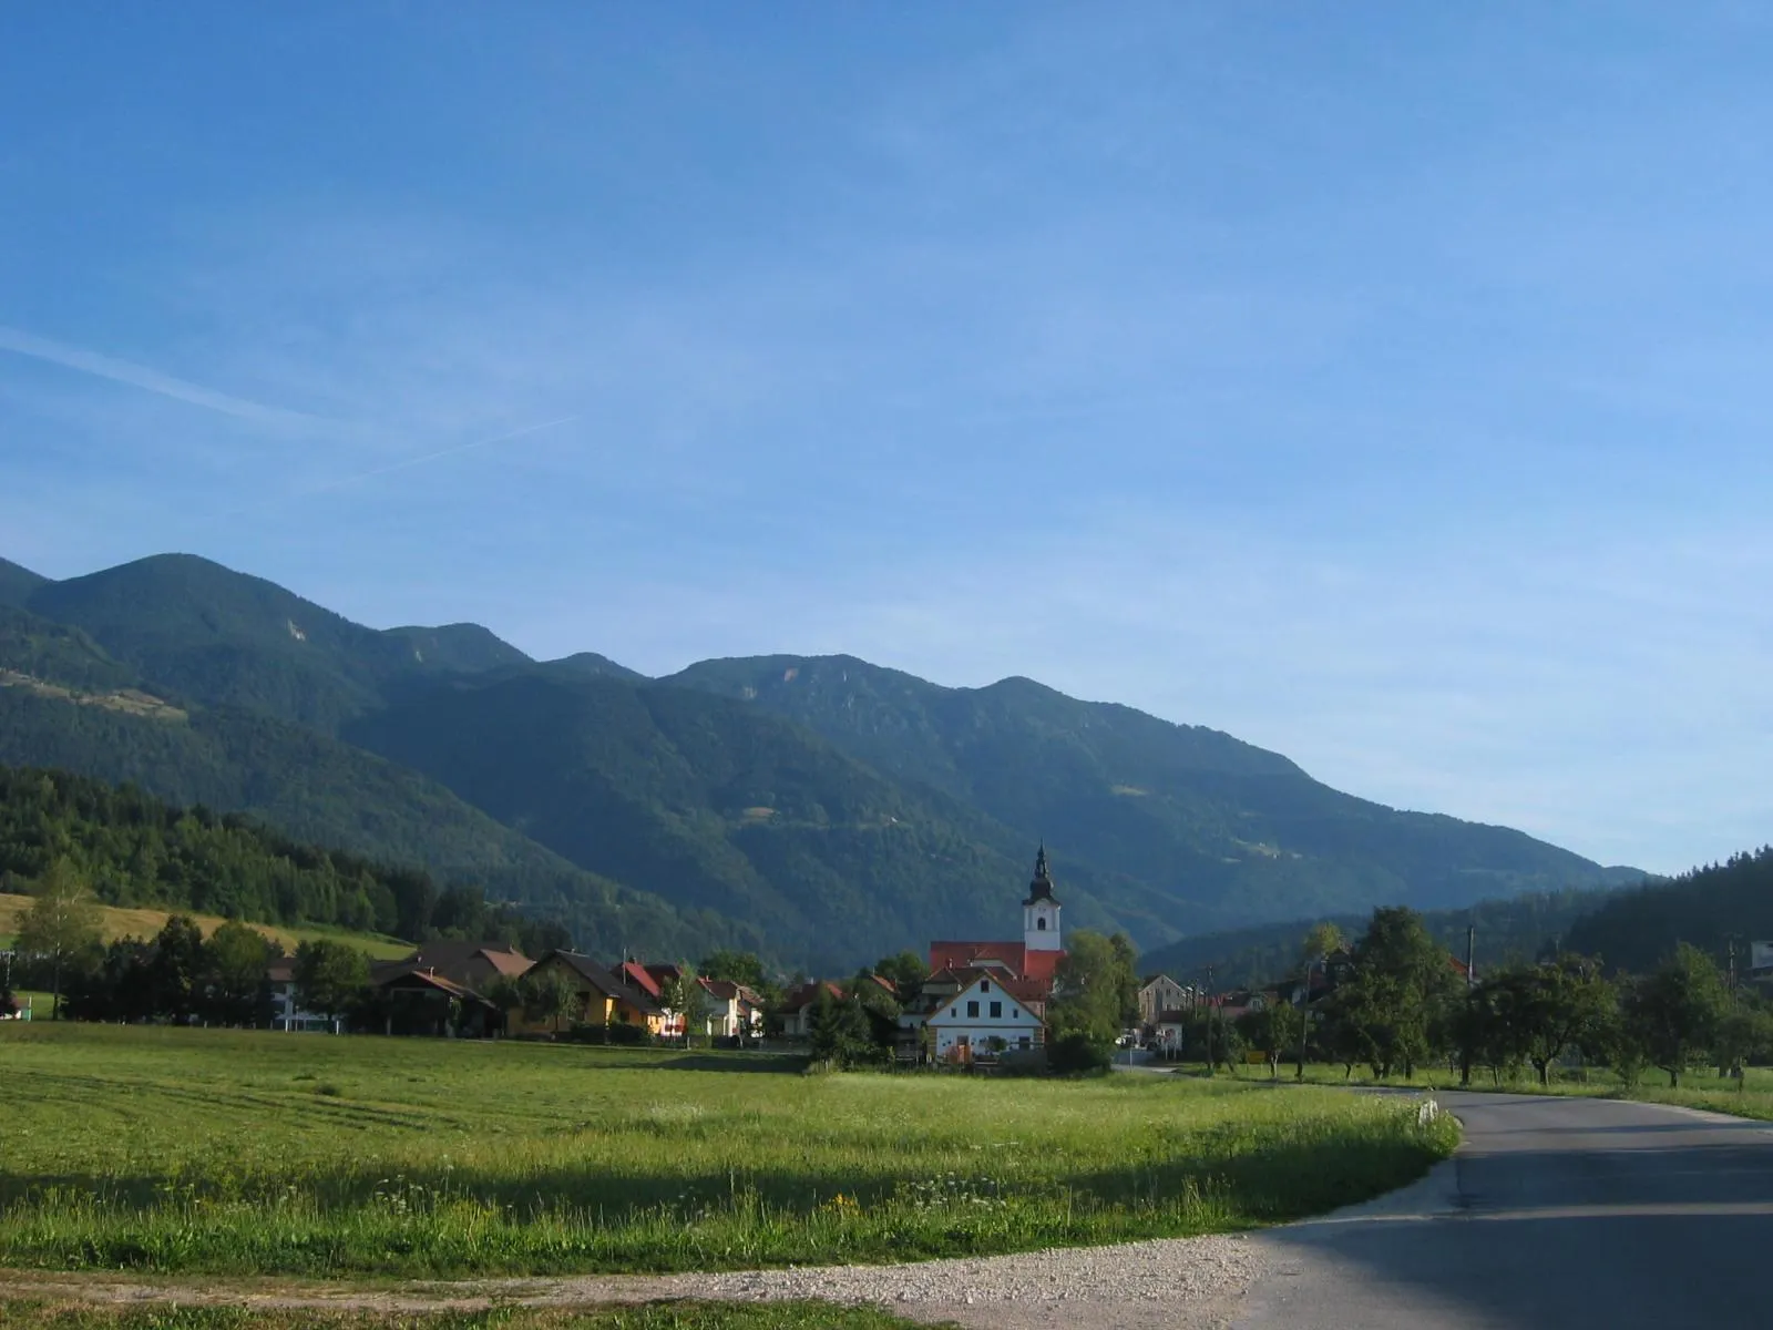
[[[1773,1126],[1608,1099],[1443,1094],[1417,1186],[1262,1234],[1236,1330],[1773,1326]]]

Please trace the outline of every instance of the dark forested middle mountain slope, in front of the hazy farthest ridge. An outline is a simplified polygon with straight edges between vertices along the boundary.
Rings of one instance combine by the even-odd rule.
[[[461,681],[346,734],[583,867],[757,924],[789,959],[842,965],[1019,926],[1030,844],[718,697]],[[1082,881],[1067,904],[1080,924],[1113,920]]]

